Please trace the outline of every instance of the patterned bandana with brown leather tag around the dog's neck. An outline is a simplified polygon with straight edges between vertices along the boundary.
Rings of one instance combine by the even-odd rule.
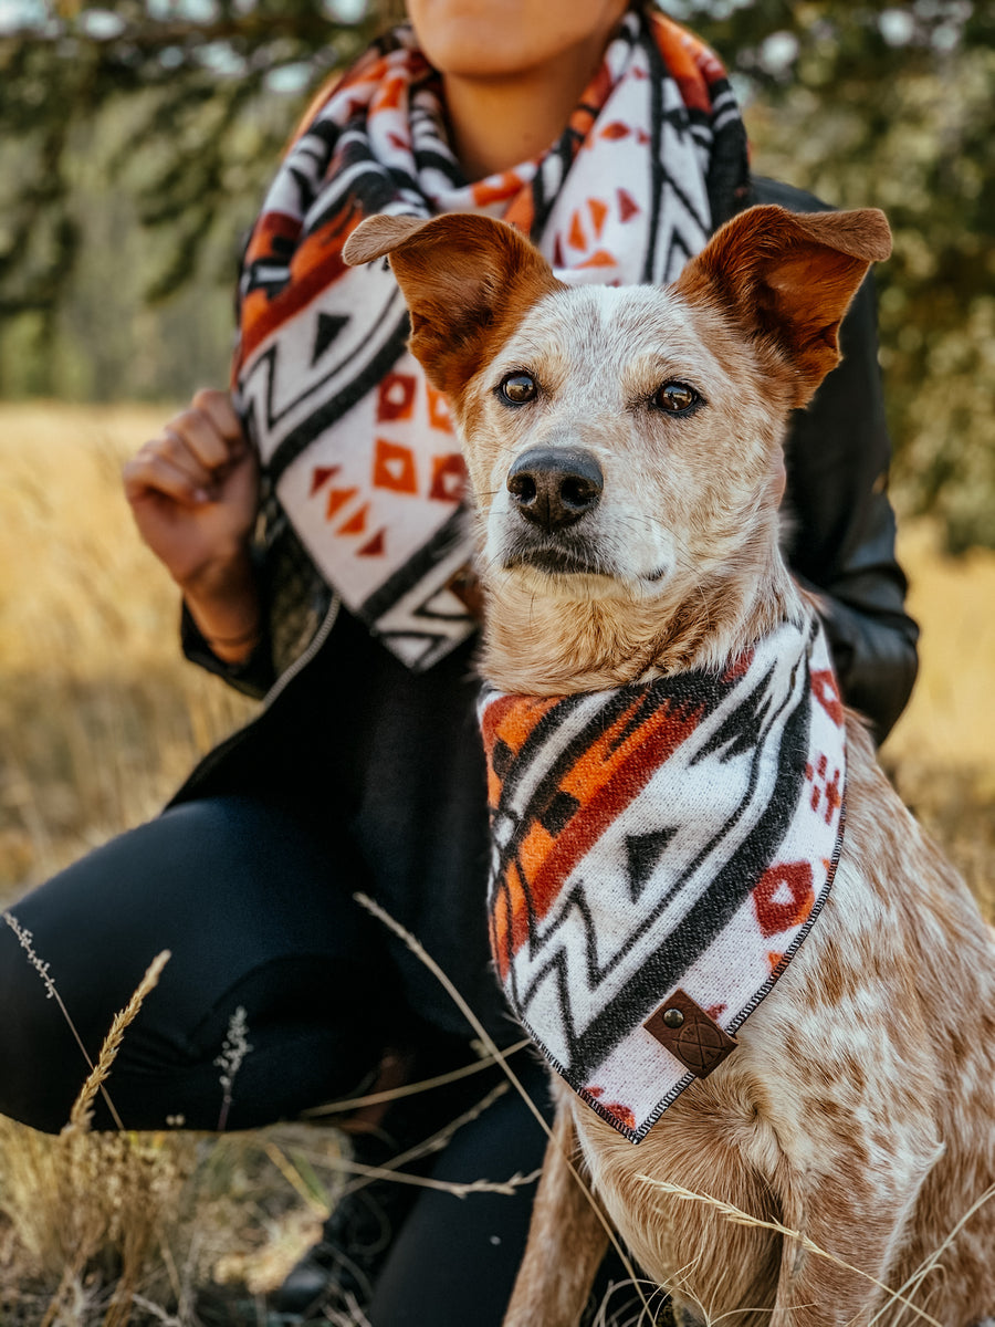
[[[722,675],[486,690],[480,723],[505,995],[639,1143],[735,1050],[829,892],[846,766],[823,629],[784,622]]]

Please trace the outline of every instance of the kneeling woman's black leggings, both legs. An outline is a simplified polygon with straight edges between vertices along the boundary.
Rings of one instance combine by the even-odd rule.
[[[293,1117],[367,1083],[387,1044],[444,1040],[413,1015],[379,922],[353,901],[358,863],[334,863],[287,813],[241,798],[191,802],[114,839],[13,905],[96,1056],[117,1010],[162,949],[172,954],[127,1030],[107,1083],[123,1124],[218,1128],[222,1054],[244,1010],[251,1051],[227,1128]],[[13,932],[0,925],[0,1113],[54,1132],[86,1064]],[[466,1050],[464,1047],[462,1050]],[[544,1072],[524,1070],[548,1109]],[[444,1113],[443,1125],[450,1119]],[[102,1103],[96,1124],[109,1128]],[[464,1125],[435,1174],[472,1181],[529,1174],[545,1137],[509,1092]],[[425,1192],[394,1241],[373,1327],[431,1322],[498,1327],[513,1283],[533,1188],[459,1200]]]

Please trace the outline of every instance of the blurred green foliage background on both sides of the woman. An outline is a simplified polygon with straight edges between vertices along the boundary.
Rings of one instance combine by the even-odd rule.
[[[280,146],[397,3],[352,23],[342,0],[21,4],[0,33],[0,394],[223,382],[239,238]],[[759,173],[888,212],[898,496],[953,549],[995,547],[995,4],[665,8],[732,70]]]

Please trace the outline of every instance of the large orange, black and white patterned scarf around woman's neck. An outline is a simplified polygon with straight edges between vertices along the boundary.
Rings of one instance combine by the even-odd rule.
[[[677,24],[630,12],[549,153],[467,184],[439,78],[397,29],[312,107],[249,239],[236,402],[279,506],[316,565],[405,664],[476,628],[464,468],[444,397],[405,350],[386,263],[341,251],[374,212],[486,212],[564,281],[666,283],[747,186],[724,70]]]

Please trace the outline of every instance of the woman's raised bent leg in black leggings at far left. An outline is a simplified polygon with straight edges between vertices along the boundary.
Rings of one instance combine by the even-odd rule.
[[[354,863],[341,853],[330,863],[283,812],[216,798],[111,840],[11,912],[32,933],[92,1058],[147,965],[170,950],[107,1083],[127,1128],[178,1119],[218,1128],[224,1089],[215,1060],[244,1010],[252,1050],[227,1112],[227,1127],[244,1129],[356,1091],[397,1035],[379,924],[350,897],[358,882]],[[86,1064],[7,926],[0,1009],[0,1113],[56,1132]],[[102,1104],[96,1124],[111,1125]]]

